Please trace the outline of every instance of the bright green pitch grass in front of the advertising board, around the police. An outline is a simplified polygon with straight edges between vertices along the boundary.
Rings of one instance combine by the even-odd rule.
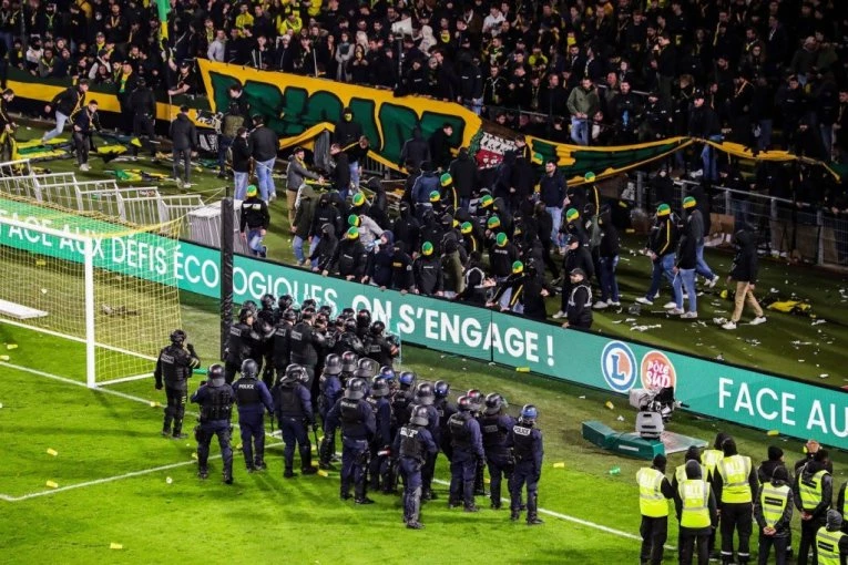
[[[216,327],[214,314],[205,311],[208,305],[204,302],[186,300],[183,319],[200,355],[208,360],[215,349]],[[74,368],[84,359],[78,343],[1,323],[0,343],[19,346],[7,351],[10,363],[81,380],[81,369]],[[403,361],[405,369],[417,371],[422,379],[447,379],[454,392],[471,387],[497,390],[509,399],[512,413],[522,403],[535,403],[545,438],[540,505],[637,533],[638,493],[633,477],[643,463],[606,453],[580,436],[580,422],[589,419],[622,431],[631,429],[634,411],[625,407],[624,399],[410,347]],[[447,487],[441,484],[436,489],[439,500],[423,506],[427,528],[407,532],[397,496],[374,494],[377,504],[357,507],[338,501],[337,473],[283,480],[278,445],[268,449],[267,472],[246,474],[236,453],[235,485],[221,483],[219,460],[211,461],[211,479],[201,482],[192,463],[194,442],[159,436],[162,409],[149,402],[164,402],[164,394],[153,389],[152,379],[109,388],[137,397],[140,402],[8,366],[2,370],[6,387],[0,393],[0,427],[14,433],[6,435],[0,493],[18,497],[51,491],[47,481],[62,489],[185,463],[19,502],[0,500],[4,517],[0,536],[8,563],[44,558],[58,563],[172,563],[177,555],[187,563],[270,562],[279,561],[280,555],[286,563],[372,563],[377,558],[454,563],[458,555],[487,555],[493,563],[600,565],[637,556],[636,541],[551,515],[543,515],[546,523],[537,528],[523,522],[513,524],[507,511],[489,510],[484,499],[478,499],[484,508],[479,514],[449,511]],[[192,390],[195,387],[192,383]],[[607,400],[614,402],[614,410],[604,407]],[[619,422],[619,415],[625,421]],[[193,421],[186,417],[188,431]],[[719,428],[734,434],[740,452],[755,462],[773,443],[786,451],[789,463],[800,458],[799,442],[682,412],[671,425],[676,432],[707,441]],[[48,449],[59,454],[51,456]],[[218,453],[215,442],[212,453]],[[848,458],[836,453],[835,460],[839,485],[848,473]],[[556,462],[563,462],[564,469],[554,469]],[[671,456],[670,473],[681,463],[681,454]],[[614,466],[621,468],[621,474],[610,474]],[[166,483],[168,476],[171,484]],[[437,477],[447,476],[440,458]],[[797,522],[796,517],[796,526]],[[668,540],[675,543],[674,524]],[[123,548],[111,551],[111,543]],[[672,554],[666,559],[673,559]]]

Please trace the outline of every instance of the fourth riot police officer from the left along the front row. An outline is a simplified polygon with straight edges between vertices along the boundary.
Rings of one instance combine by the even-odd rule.
[[[274,410],[283,433],[283,459],[285,470],[283,476],[295,476],[294,461],[295,446],[300,452],[300,473],[311,475],[317,473],[313,466],[311,443],[306,429],[311,425],[315,429],[315,413],[313,412],[311,394],[306,387],[308,382],[306,369],[292,363],[286,368],[283,378],[274,386]]]

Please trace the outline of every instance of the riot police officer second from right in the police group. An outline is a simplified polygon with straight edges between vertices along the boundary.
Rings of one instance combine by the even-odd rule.
[[[483,450],[489,464],[489,487],[491,490],[491,507],[501,508],[501,480],[507,479],[509,485],[514,461],[507,449],[507,435],[515,425],[515,419],[504,413],[507,401],[497,392],[486,397],[483,415],[480,419],[480,430],[483,434]]]

